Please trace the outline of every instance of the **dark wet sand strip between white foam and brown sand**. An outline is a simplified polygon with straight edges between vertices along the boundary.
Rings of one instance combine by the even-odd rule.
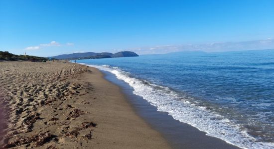
[[[100,70],[101,71],[101,70]],[[173,119],[167,112],[157,111],[142,97],[133,93],[133,87],[123,80],[118,79],[114,74],[101,71],[105,79],[118,85],[122,93],[128,98],[131,106],[148,125],[160,132],[174,149],[241,149],[229,144],[224,140],[206,135],[197,128]]]

